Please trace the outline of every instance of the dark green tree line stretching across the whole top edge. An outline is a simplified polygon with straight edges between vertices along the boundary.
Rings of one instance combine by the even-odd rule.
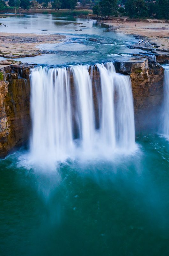
[[[35,0],[9,0],[8,4],[12,7],[21,7],[29,9],[30,5],[34,6]],[[49,0],[38,0],[44,7],[48,6]],[[149,18],[169,19],[169,0],[80,0],[83,6],[94,2],[93,14],[103,17],[112,15],[129,16],[130,18]],[[53,0],[52,8],[75,9],[77,0]],[[120,7],[118,7],[120,5]],[[0,0],[0,10],[6,9],[4,0]]]

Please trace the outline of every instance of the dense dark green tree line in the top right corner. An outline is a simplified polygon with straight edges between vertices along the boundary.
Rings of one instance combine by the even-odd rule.
[[[169,0],[100,0],[93,6],[93,14],[107,18],[118,16],[118,12],[130,18],[169,19]]]

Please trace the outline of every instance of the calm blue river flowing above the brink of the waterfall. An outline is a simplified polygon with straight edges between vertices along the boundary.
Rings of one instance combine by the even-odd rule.
[[[57,44],[38,46],[44,53],[15,60],[42,65],[91,64],[106,60],[129,59],[129,54],[143,52],[129,49],[138,40],[133,36],[112,31],[96,20],[56,17],[54,14],[11,16],[0,19],[1,32],[60,34],[66,36]],[[5,27],[6,26],[6,27]],[[1,60],[4,58],[1,57]]]

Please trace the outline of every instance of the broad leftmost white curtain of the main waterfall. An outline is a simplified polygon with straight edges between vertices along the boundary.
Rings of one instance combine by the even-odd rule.
[[[69,156],[73,148],[70,79],[66,68],[36,68],[31,73],[31,150],[35,157]]]

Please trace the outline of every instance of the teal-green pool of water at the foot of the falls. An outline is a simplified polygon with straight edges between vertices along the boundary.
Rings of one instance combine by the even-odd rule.
[[[168,255],[169,144],[137,137],[112,162],[55,171],[23,167],[23,149],[0,163],[0,255]]]

